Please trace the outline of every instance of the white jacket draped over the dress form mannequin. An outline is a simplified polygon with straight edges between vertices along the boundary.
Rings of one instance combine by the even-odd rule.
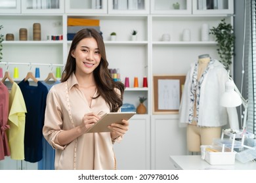
[[[190,95],[192,78],[196,63],[192,63],[186,75],[179,108],[179,122],[189,123]],[[200,89],[200,108],[198,111],[198,125],[202,127],[221,127],[228,124],[232,129],[239,129],[238,114],[235,107],[226,108],[220,105],[221,95],[225,92],[225,83],[228,81],[228,72],[217,59],[209,65]]]

